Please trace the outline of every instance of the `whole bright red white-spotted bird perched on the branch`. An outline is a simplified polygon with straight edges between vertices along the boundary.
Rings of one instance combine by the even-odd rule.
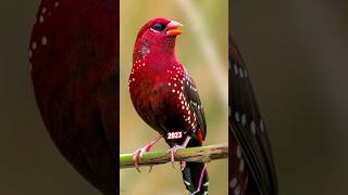
[[[154,18],[137,36],[128,81],[130,98],[140,117],[160,135],[135,152],[135,161],[161,138],[172,147],[172,161],[178,148],[201,146],[204,141],[206,118],[197,88],[174,53],[181,26],[175,21]],[[206,165],[182,162],[182,168],[187,191],[208,194]]]

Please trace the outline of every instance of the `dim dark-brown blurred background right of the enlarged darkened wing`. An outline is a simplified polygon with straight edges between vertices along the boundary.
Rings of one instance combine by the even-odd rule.
[[[348,1],[234,0],[281,195],[347,194]]]

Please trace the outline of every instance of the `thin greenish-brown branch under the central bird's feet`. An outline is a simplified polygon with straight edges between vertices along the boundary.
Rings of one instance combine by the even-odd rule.
[[[197,161],[197,162],[209,162],[215,159],[227,158],[228,145],[208,145],[201,147],[189,147],[178,150],[175,153],[175,161]],[[139,158],[139,166],[153,166],[159,164],[166,164],[171,161],[171,157],[165,152],[149,152],[145,153]],[[120,155],[120,169],[134,168],[133,154]]]

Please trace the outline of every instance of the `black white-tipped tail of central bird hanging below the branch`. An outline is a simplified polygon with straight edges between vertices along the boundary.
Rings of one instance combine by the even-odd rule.
[[[207,167],[202,162],[187,161],[183,172],[183,180],[189,195],[207,195],[208,194],[208,172]],[[198,191],[198,187],[200,188]]]

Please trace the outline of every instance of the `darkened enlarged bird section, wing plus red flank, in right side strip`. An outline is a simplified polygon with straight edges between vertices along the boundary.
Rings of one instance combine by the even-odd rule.
[[[249,73],[229,38],[229,194],[277,195],[270,142],[249,80]]]

